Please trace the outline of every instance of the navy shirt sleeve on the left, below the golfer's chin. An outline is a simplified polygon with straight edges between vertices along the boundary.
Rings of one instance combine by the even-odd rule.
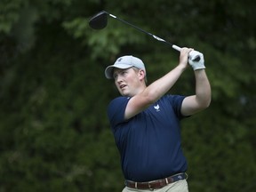
[[[108,105],[108,120],[113,129],[124,122],[124,112],[130,98],[118,97]]]

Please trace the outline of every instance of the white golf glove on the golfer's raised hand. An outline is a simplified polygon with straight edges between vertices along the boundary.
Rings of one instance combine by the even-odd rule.
[[[188,63],[194,70],[205,68],[203,53],[194,50],[189,52]]]

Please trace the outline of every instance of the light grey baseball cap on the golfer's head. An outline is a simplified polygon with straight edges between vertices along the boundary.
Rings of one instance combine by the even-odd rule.
[[[120,57],[116,60],[114,65],[108,66],[108,68],[105,69],[105,76],[108,79],[113,78],[113,69],[114,68],[140,68],[145,71],[146,74],[146,68],[144,66],[144,63],[139,58],[133,57],[132,55],[126,55],[123,57]]]

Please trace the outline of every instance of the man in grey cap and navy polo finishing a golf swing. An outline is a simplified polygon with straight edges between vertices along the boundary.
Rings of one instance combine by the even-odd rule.
[[[196,94],[165,95],[188,62],[195,71]],[[108,119],[121,155],[123,192],[188,192],[180,119],[210,105],[211,87],[204,68],[204,55],[188,48],[180,50],[176,68],[148,86],[144,63],[136,57],[118,58],[106,68],[105,76],[114,78],[122,95],[109,103]]]

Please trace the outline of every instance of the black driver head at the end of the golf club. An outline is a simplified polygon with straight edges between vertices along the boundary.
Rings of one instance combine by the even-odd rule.
[[[89,20],[89,26],[94,29],[106,28],[108,24],[108,12],[101,11]]]

